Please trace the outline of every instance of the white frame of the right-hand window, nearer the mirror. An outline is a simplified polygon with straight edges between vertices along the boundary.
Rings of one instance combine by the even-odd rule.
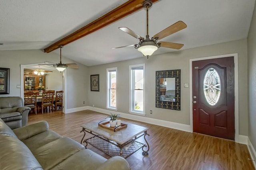
[[[133,75],[133,68],[139,68],[139,67],[142,67],[142,70],[143,70],[143,111],[137,111],[134,109],[134,75]],[[129,66],[129,112],[132,113],[132,114],[138,114],[138,115],[146,115],[146,92],[145,92],[145,89],[146,89],[146,78],[145,78],[145,75],[146,75],[146,72],[145,72],[145,63],[144,64],[135,64],[135,65],[130,65]]]

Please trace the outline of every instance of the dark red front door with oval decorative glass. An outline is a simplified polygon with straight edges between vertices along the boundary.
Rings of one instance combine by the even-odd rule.
[[[192,62],[193,131],[234,140],[234,57]]]

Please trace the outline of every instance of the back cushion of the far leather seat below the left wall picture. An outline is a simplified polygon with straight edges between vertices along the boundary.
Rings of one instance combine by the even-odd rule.
[[[20,97],[0,97],[0,113],[15,112],[23,106],[23,99]]]

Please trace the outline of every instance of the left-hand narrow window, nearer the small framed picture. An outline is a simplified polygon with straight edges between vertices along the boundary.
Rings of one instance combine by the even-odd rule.
[[[117,68],[107,68],[107,108],[116,109],[116,72]]]

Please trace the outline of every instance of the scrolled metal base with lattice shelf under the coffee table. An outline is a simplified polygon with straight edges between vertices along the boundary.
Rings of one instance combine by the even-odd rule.
[[[147,131],[143,132],[141,135],[139,135],[138,137],[135,137],[134,139],[124,143],[123,145],[120,145],[114,141],[111,141],[105,137],[102,137],[98,134],[92,133],[92,131],[87,131],[86,129],[82,129],[81,132],[84,132],[84,136],[81,140],[81,144],[86,143],[86,146],[88,145],[88,143],[90,145],[92,145],[93,147],[101,150],[102,152],[108,154],[109,156],[122,156],[124,158],[128,158],[130,155],[132,155],[134,152],[136,152],[137,150],[139,150],[140,148],[142,148],[143,152],[142,155],[144,156],[148,156],[148,150],[149,150],[149,146],[148,146],[148,142],[146,141],[145,136],[149,134],[147,133]],[[85,134],[90,133],[92,135],[94,135],[94,137],[90,137],[88,139],[84,139]],[[138,141],[135,141],[136,139],[140,138],[144,136],[144,139],[147,143],[147,145],[140,143]],[[144,147],[148,148],[147,150],[144,150]]]

